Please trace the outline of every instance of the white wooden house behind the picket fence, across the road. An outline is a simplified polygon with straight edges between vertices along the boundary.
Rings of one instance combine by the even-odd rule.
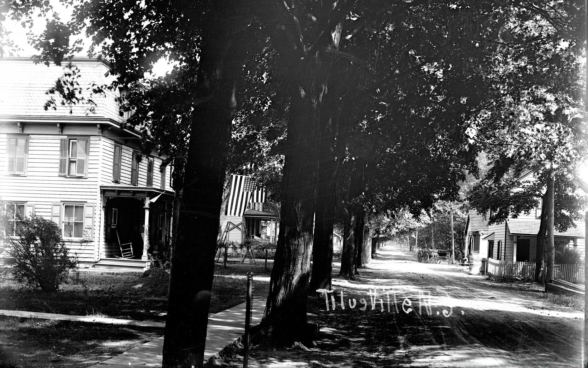
[[[519,181],[531,182],[536,178],[526,173]],[[580,193],[580,192],[579,192]],[[482,258],[487,258],[488,272],[502,274],[506,262],[534,262],[536,258],[537,233],[539,233],[541,202],[529,214],[519,214],[517,218],[507,218],[499,224],[487,225],[475,210],[470,210],[466,223],[466,246],[472,251],[472,273],[479,274]],[[576,249],[584,259],[584,221],[575,221],[576,227],[567,231],[554,230],[554,241]]]

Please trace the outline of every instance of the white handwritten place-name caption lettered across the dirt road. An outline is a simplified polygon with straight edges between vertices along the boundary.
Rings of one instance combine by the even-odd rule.
[[[325,296],[325,305],[326,305],[326,310],[329,310],[329,294],[333,293],[333,290],[326,290],[326,289],[318,289],[316,290],[318,293],[322,293]],[[438,290],[441,291],[442,293],[445,293],[446,296],[449,298],[449,294],[447,294],[446,291],[444,290]],[[372,307],[372,310],[374,309],[380,309],[380,311],[384,311],[385,308],[384,306],[387,306],[387,310],[390,311],[390,303],[392,303],[393,309],[396,309],[396,313],[400,313],[400,309],[402,309],[406,314],[410,313],[413,311],[412,307],[416,308],[416,306],[413,306],[413,302],[412,300],[410,300],[409,298],[405,298],[404,300],[402,300],[402,304],[400,305],[400,309],[398,308],[398,300],[396,299],[396,291],[390,291],[390,290],[385,290],[382,289],[381,293],[379,295],[386,296],[386,300],[379,298],[378,299],[378,293],[376,288],[373,289],[369,289],[369,291],[367,292],[369,299],[370,299],[370,304]],[[390,296],[392,296],[392,300],[390,300]],[[343,301],[343,291],[339,291],[339,297],[340,297],[340,308],[341,309],[345,309],[346,308],[346,304],[345,301]],[[352,303],[353,301],[353,303]],[[338,303],[335,303],[335,296],[331,295],[330,296],[330,309],[335,310],[335,307]],[[359,300],[360,303],[363,304],[363,307],[360,307],[359,310],[366,310],[368,309],[368,301],[366,301],[366,299],[360,299]],[[348,300],[349,303],[349,308],[353,309],[356,307],[357,305],[357,301],[355,299],[349,299]],[[431,307],[431,292],[427,291],[427,295],[425,295],[423,293],[423,291],[419,291],[419,300],[416,301],[415,303],[419,303],[419,314],[423,314],[423,309],[425,309],[425,313],[427,313],[429,316],[431,314],[433,314],[433,310]],[[379,307],[379,308],[378,308]],[[443,309],[443,316],[445,317],[449,317],[453,314],[453,307],[448,307],[449,311],[447,311],[446,309]],[[465,312],[462,310],[461,311],[462,314],[465,314]],[[416,313],[416,310],[415,310]],[[437,315],[439,315],[439,311],[437,311]]]

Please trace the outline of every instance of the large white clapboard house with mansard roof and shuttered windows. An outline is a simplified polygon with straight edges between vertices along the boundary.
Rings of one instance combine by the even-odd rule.
[[[113,80],[105,61],[71,62],[83,89]],[[56,110],[45,110],[46,92],[68,69],[4,58],[0,70],[0,197],[14,221],[31,214],[55,221],[81,267],[145,268],[170,238],[170,167],[158,152],[141,152],[139,132],[119,116],[119,92],[71,111],[55,97]],[[132,257],[122,258],[125,243]]]

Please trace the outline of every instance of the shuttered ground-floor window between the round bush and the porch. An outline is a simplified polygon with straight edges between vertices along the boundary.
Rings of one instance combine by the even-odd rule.
[[[52,220],[59,224],[64,238],[92,240],[94,206],[77,203],[54,203]]]

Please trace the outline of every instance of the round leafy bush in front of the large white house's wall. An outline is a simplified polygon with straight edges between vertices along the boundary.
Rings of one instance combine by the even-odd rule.
[[[59,227],[53,221],[32,216],[19,221],[15,234],[5,239],[3,253],[11,263],[4,274],[29,287],[57,291],[78,263],[76,255],[69,254]]]

